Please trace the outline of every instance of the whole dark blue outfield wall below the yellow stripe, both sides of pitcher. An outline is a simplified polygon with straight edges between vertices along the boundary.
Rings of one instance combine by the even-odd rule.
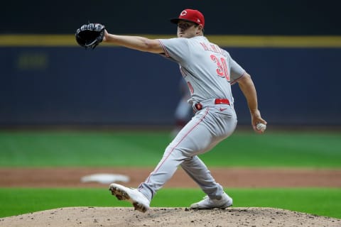
[[[226,49],[253,77],[269,123],[341,125],[340,46]],[[180,72],[164,57],[107,45],[2,45],[0,64],[1,126],[173,123]],[[247,104],[238,85],[233,91],[247,124]]]

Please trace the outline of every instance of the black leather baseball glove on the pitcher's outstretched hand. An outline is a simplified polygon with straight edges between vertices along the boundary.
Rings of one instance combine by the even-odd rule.
[[[96,48],[104,38],[104,28],[100,23],[88,23],[76,31],[76,41],[83,48]]]

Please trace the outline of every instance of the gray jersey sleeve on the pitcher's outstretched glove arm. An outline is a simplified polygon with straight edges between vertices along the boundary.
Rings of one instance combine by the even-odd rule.
[[[189,54],[186,38],[159,39],[158,41],[165,52],[165,57],[170,57],[175,62],[183,62],[183,59]]]

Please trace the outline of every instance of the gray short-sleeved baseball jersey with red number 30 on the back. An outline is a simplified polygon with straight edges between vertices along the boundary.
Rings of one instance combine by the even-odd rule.
[[[226,50],[210,43],[205,36],[161,39],[160,43],[166,57],[179,63],[193,102],[222,98],[233,104],[230,84],[242,77],[245,70]]]

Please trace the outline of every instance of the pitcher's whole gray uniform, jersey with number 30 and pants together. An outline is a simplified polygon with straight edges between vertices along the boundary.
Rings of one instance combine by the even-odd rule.
[[[197,155],[211,150],[236,128],[231,84],[245,71],[227,51],[204,36],[161,39],[159,42],[166,57],[179,63],[192,95],[190,101],[205,105],[197,109],[195,116],[167,146],[151,175],[139,185],[139,191],[151,200],[180,165],[211,199],[220,199],[223,187],[215,182]],[[217,104],[216,99],[228,99],[229,104]]]

